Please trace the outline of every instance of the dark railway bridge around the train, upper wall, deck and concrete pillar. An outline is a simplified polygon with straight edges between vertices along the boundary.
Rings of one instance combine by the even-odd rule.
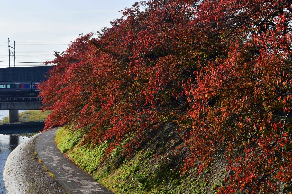
[[[1,81],[46,81],[51,66],[0,68]],[[18,110],[39,110],[41,98],[35,95],[7,95],[0,92],[0,110],[9,110],[8,121],[18,122]]]

